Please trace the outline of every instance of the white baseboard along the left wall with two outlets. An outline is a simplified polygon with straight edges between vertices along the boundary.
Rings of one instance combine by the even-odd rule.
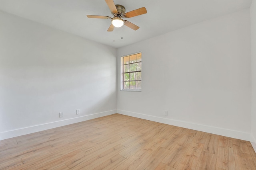
[[[21,135],[27,135],[27,134],[34,133],[34,132],[44,131],[44,130],[52,129],[55,127],[70,125],[73,123],[78,123],[81,121],[95,119],[95,118],[103,117],[106,115],[112,115],[114,113],[117,113],[116,110],[110,110],[110,111],[104,111],[101,113],[94,113],[94,114],[90,114],[90,115],[75,117],[72,119],[65,119],[62,121],[55,121],[55,122],[45,123],[45,124],[41,124],[41,125],[24,127],[21,129],[15,129],[12,131],[6,131],[6,132],[0,133],[0,140],[9,139],[9,138],[17,137],[17,136],[21,136]]]

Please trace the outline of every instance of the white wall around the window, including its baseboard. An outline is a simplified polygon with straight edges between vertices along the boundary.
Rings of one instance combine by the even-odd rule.
[[[118,66],[118,113],[250,140],[249,9],[119,48],[117,63],[138,51],[142,92],[119,90]]]

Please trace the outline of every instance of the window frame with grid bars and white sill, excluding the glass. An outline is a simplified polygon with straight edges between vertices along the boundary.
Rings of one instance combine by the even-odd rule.
[[[139,54],[141,53],[141,56],[142,56],[142,52],[139,51],[139,52],[136,52],[136,53],[131,53],[131,54],[128,54],[128,55],[123,55],[120,57],[120,67],[121,67],[121,77],[120,77],[120,90],[121,91],[134,91],[134,92],[141,92],[142,91],[142,78],[140,80],[141,82],[141,88],[140,89],[124,89],[124,57],[128,57],[128,56],[131,56],[131,55],[136,55],[136,54]],[[142,60],[142,57],[141,57],[141,60]],[[140,62],[136,62],[136,63],[142,63],[142,61]],[[131,63],[129,63],[131,64]],[[141,77],[142,77],[142,65],[141,65],[141,70],[140,71],[135,71],[135,72],[141,72]],[[130,73],[130,72],[129,72]],[[138,81],[138,80],[137,80]],[[136,80],[135,80],[136,82]]]

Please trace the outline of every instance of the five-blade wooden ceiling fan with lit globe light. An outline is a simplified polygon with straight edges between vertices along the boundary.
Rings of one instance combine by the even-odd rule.
[[[114,27],[122,27],[123,25],[126,25],[127,27],[130,27],[131,29],[134,29],[134,30],[137,30],[140,28],[137,25],[135,25],[127,20],[123,20],[122,18],[132,18],[135,16],[146,14],[147,10],[145,7],[125,13],[124,6],[115,5],[114,0],[105,0],[105,1],[113,15],[113,18],[111,18],[109,16],[94,16],[94,15],[87,15],[87,17],[88,18],[100,18],[100,19],[112,19],[111,25],[108,28],[108,31],[113,31]]]

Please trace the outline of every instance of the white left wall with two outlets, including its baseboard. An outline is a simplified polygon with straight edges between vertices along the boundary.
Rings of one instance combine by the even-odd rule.
[[[116,53],[0,12],[0,140],[116,113]]]

